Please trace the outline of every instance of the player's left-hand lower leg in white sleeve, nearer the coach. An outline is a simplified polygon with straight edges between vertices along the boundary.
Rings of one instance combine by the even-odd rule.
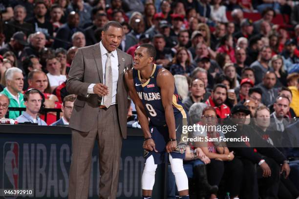
[[[149,156],[146,160],[142,180],[142,199],[151,199],[152,187],[155,183],[155,172],[157,169],[157,164],[155,164],[153,156]]]

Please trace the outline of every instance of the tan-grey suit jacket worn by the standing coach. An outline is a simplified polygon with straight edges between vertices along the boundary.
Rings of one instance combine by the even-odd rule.
[[[117,82],[117,104],[118,119],[121,134],[124,139],[127,138],[127,111],[128,111],[128,93],[125,86],[124,73],[133,65],[130,55],[117,49],[119,76]],[[74,102],[69,126],[72,129],[89,132],[98,122],[99,112],[98,100],[102,98],[97,94],[87,95],[87,88],[90,83],[103,83],[103,68],[100,43],[79,48],[66,82],[66,89],[71,94],[78,95]]]

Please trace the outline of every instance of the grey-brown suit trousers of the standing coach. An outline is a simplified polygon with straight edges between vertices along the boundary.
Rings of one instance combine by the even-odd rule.
[[[95,118],[90,118],[95,119]],[[117,105],[99,109],[98,122],[89,132],[72,129],[72,162],[68,199],[87,199],[94,142],[99,145],[100,199],[115,199],[119,177],[122,137]]]

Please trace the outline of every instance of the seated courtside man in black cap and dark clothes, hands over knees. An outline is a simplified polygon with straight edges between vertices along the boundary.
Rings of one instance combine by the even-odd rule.
[[[286,171],[288,176],[290,167],[286,157],[276,147],[262,139],[251,125],[244,125],[249,114],[250,111],[246,106],[236,105],[231,114],[231,122],[232,125],[236,125],[236,131],[226,135],[227,138],[240,136],[249,138],[246,142],[227,142],[229,149],[233,150],[235,157],[242,161],[243,170],[246,171],[243,175],[243,191],[239,197],[255,199],[259,193],[261,198],[268,196],[278,198],[279,169]],[[269,119],[264,120],[269,122]],[[258,190],[255,188],[256,185]],[[243,196],[244,194],[246,196]]]

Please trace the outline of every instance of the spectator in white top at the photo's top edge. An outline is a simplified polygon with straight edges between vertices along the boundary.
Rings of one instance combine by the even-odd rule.
[[[228,20],[226,18],[226,7],[224,5],[220,5],[221,0],[214,0],[214,5],[211,5],[211,19],[214,22],[222,22],[227,23]]]

